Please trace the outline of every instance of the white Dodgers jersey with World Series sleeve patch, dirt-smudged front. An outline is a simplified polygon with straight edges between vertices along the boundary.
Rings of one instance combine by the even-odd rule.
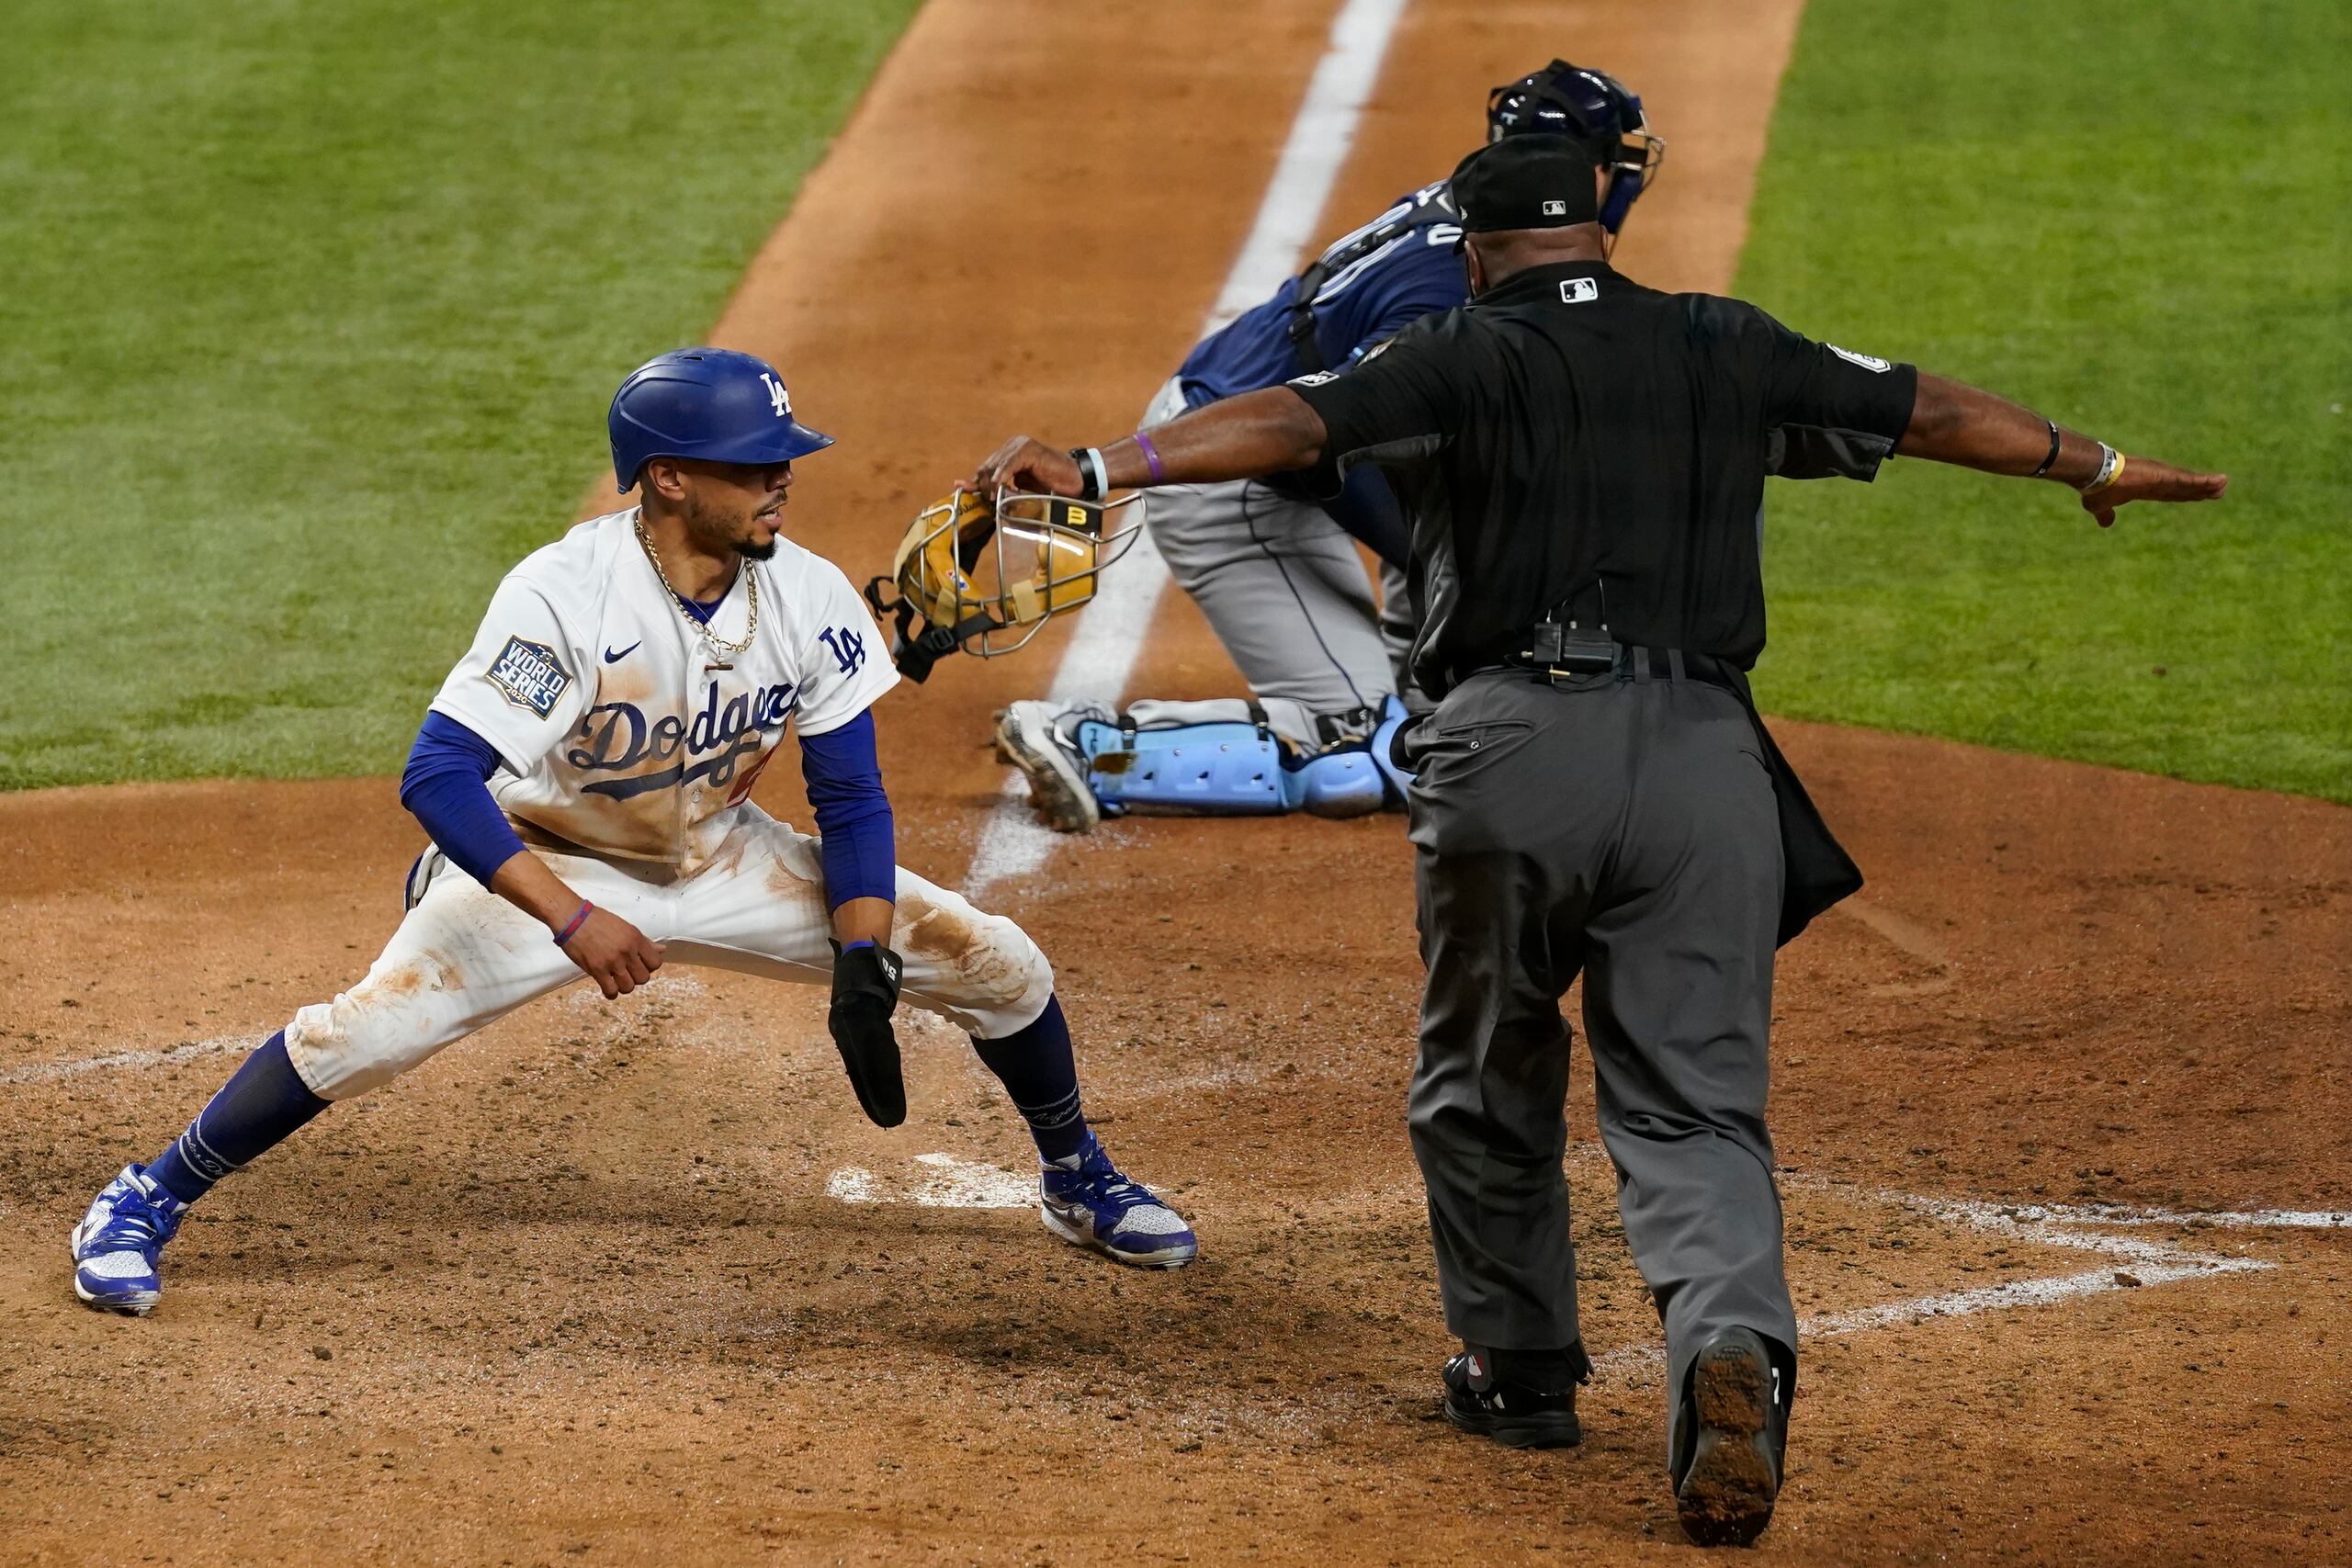
[[[433,712],[489,741],[506,764],[499,809],[527,842],[701,870],[783,741],[821,736],[898,682],[842,569],[788,538],[746,559],[710,616],[720,654],[687,621],[637,543],[637,510],[574,527],[532,552],[489,602],[482,630]]]

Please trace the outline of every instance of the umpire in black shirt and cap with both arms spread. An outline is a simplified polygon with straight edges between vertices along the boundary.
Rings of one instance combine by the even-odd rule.
[[[1564,136],[1482,148],[1454,172],[1472,303],[1348,374],[1143,437],[1007,442],[976,484],[1390,470],[1414,677],[1439,698],[1402,759],[1428,964],[1411,1133],[1463,1340],[1446,1413],[1515,1446],[1578,1439],[1559,997],[1583,973],[1618,1211],[1665,1321],[1682,1523],[1745,1542],[1771,1519],[1797,1373],[1764,1128],[1773,950],[1860,886],[1748,693],[1769,447],[2056,480],[2103,527],[2225,480],[1740,301],[1644,289],[1604,261],[1597,188]]]

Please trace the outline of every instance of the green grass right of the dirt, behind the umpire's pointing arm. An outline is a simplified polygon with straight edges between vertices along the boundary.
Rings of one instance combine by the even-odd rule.
[[[2230,473],[1773,484],[1762,701],[2352,802],[2352,7],[1811,0],[1740,294]]]

